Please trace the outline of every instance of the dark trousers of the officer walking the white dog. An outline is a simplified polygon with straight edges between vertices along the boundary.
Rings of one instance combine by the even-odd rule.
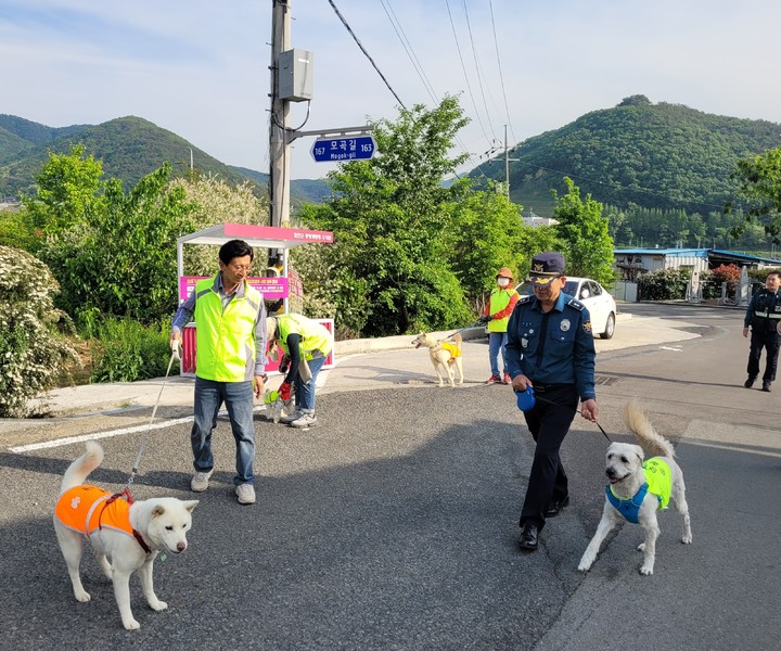
[[[532,462],[526,498],[521,511],[521,526],[528,520],[539,528],[545,526],[549,505],[567,496],[568,481],[559,449],[569,431],[578,406],[574,385],[561,384],[535,387],[537,401],[524,412],[526,424],[535,439],[535,457]]]

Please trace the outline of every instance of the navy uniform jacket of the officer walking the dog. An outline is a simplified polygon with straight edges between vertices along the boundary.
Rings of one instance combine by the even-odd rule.
[[[548,314],[545,346],[540,346],[543,320],[536,296],[522,296],[515,304],[505,352],[510,376],[524,374],[533,384],[574,384],[581,400],[596,399],[597,352],[588,308],[561,292]]]

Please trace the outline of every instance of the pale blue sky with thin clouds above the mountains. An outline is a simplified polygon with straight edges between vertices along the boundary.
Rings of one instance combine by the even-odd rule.
[[[374,61],[361,52],[334,8]],[[0,0],[0,113],[50,127],[135,115],[268,171],[272,0]],[[624,98],[781,123],[778,0],[289,0],[313,53],[303,130],[457,95],[460,171]],[[393,91],[388,88],[393,89]],[[398,98],[398,99],[397,99]],[[291,177],[335,168],[292,150]],[[781,143],[780,143],[781,144]]]

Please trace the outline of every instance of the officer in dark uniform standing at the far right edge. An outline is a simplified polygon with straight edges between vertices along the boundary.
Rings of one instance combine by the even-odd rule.
[[[743,320],[743,336],[748,336],[751,326],[751,353],[748,353],[748,379],[743,386],[751,388],[759,374],[761,349],[767,350],[763,391],[770,392],[770,383],[776,380],[778,352],[781,345],[781,273],[770,271],[765,279],[765,288],[754,294]]]

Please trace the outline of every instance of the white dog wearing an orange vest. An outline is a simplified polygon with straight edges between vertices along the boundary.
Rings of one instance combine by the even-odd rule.
[[[185,534],[197,500],[164,497],[128,503],[119,496],[84,484],[102,461],[103,448],[90,441],[87,451],[65,471],[54,510],[54,531],[76,599],[91,599],[79,575],[84,539],[88,538],[103,572],[114,583],[123,625],[132,630],[140,625],[130,610],[130,575],[139,571],[150,608],[168,608],[154,593],[152,564],[159,551],[180,553],[187,549]]]

